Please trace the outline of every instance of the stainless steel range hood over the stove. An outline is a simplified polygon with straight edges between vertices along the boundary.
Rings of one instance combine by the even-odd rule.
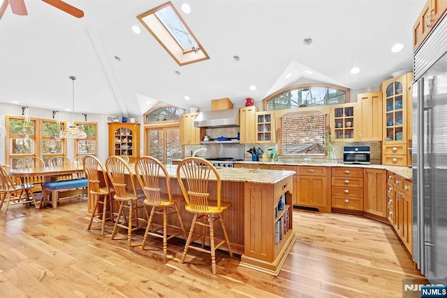
[[[215,110],[200,112],[196,120],[195,127],[237,127],[239,126],[239,108],[229,108],[226,110]]]

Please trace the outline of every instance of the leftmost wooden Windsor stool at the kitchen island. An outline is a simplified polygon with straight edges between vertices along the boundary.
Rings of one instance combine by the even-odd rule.
[[[94,208],[93,211],[91,211],[87,229],[91,228],[91,222],[96,218],[96,220],[101,222],[101,235],[104,236],[105,221],[110,219],[113,220],[112,194],[115,190],[109,187],[107,172],[105,171],[104,165],[97,157],[93,155],[83,157],[82,166],[87,175],[87,188],[89,194],[94,201]],[[101,187],[101,182],[105,184],[104,187]]]

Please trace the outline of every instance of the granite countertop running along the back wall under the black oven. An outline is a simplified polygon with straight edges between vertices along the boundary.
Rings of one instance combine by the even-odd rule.
[[[344,166],[344,167],[354,167],[354,168],[366,168],[366,169],[385,169],[392,171],[397,175],[402,176],[405,179],[412,180],[413,169],[407,166],[387,166],[385,164],[336,164],[330,162],[251,162],[251,161],[241,161],[238,164],[270,164],[270,165],[284,165],[284,166]]]

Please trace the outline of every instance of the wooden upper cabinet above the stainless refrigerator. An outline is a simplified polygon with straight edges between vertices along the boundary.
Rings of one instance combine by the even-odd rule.
[[[413,25],[413,50],[416,51],[447,9],[446,0],[428,0]]]

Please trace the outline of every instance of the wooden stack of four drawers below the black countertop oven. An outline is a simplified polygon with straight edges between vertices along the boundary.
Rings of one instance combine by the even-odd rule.
[[[333,167],[332,208],[363,211],[363,169]]]

